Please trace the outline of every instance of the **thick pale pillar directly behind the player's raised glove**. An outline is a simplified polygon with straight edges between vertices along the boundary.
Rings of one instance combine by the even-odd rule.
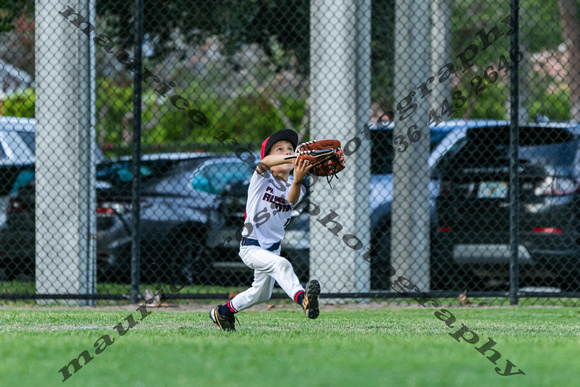
[[[311,193],[320,215],[310,221],[310,240],[324,239],[310,244],[310,276],[324,279],[325,293],[370,290],[370,264],[363,258],[370,245],[370,141],[351,141],[364,138],[361,129],[369,120],[370,18],[370,0],[310,2],[310,137],[341,140],[349,165],[341,191],[356,192],[354,205],[322,184]]]

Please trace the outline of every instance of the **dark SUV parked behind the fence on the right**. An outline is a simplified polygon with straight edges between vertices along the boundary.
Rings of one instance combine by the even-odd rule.
[[[520,128],[520,285],[578,290],[580,126]],[[509,126],[469,129],[442,163],[433,238],[434,288],[506,288]]]

